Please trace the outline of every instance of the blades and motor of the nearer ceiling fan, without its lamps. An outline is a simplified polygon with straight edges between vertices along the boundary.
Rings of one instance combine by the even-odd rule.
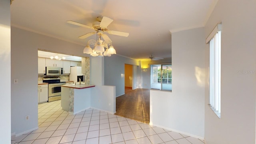
[[[82,26],[84,28],[90,28],[95,30],[96,32],[89,32],[87,34],[84,34],[82,36],[79,36],[78,38],[84,39],[87,38],[89,36],[92,36],[93,34],[97,33],[98,35],[100,35],[104,40],[110,40],[110,38],[108,37],[108,35],[104,34],[103,32],[107,32],[108,34],[114,34],[117,36],[129,36],[128,32],[119,32],[119,31],[114,31],[114,30],[108,30],[108,25],[113,22],[113,20],[111,18],[108,18],[106,16],[103,17],[97,17],[96,18],[97,21],[95,21],[92,26],[87,26],[85,24],[81,24],[79,22],[75,22],[72,20],[68,20],[67,22],[69,24],[74,24],[76,26]],[[110,40],[111,41],[111,40]],[[111,41],[112,42],[112,41]]]

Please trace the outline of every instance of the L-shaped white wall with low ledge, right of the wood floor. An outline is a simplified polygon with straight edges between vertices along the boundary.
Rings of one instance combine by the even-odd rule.
[[[172,33],[172,92],[150,90],[150,124],[204,138],[204,28]]]

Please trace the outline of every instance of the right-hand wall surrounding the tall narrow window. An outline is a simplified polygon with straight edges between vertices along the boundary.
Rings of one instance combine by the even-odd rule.
[[[256,1],[219,0],[205,26],[205,38],[222,22],[221,118],[209,103],[209,45],[206,51],[205,141],[207,144],[255,144]],[[242,72],[242,73],[240,73]]]

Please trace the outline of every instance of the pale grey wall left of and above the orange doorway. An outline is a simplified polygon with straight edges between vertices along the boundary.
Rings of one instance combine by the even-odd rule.
[[[124,64],[138,66],[138,60],[116,54],[104,57],[104,85],[116,86],[116,96],[124,94]]]

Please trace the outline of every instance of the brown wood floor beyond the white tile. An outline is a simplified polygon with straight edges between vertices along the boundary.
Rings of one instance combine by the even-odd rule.
[[[125,88],[125,94],[116,98],[116,115],[149,124],[149,89]]]

